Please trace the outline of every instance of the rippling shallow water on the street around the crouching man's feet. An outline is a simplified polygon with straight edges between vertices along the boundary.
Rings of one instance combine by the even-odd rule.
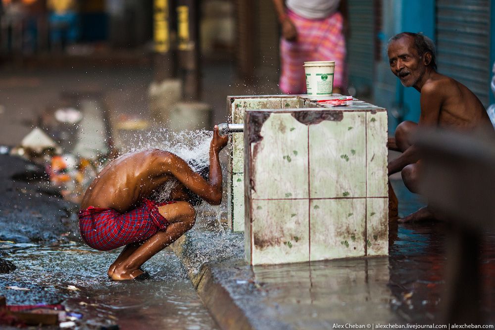
[[[79,322],[83,329],[112,324],[131,330],[217,329],[173,252],[163,250],[144,264],[152,276],[145,282],[110,281],[106,271],[117,255],[78,244],[13,247],[5,259],[17,269],[0,275],[2,293],[12,305],[56,303],[59,300],[50,299],[59,298],[55,291],[61,290],[66,308],[84,315]],[[31,290],[4,289],[5,285]]]

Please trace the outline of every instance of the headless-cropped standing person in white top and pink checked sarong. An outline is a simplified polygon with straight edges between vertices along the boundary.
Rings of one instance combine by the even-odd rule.
[[[347,0],[273,0],[282,26],[280,90],[306,93],[303,64],[335,61],[334,93],[346,89]]]

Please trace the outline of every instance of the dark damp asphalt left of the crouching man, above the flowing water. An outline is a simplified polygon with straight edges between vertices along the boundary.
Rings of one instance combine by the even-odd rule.
[[[0,155],[0,240],[46,245],[77,239],[77,209],[56,196],[42,166]]]

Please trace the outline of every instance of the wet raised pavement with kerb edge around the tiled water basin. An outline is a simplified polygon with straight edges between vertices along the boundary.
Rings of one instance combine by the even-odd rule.
[[[423,205],[401,181],[393,185],[399,215]],[[174,248],[199,296],[219,325],[228,329],[432,324],[441,316],[446,287],[446,232],[444,223],[393,223],[389,257],[272,266],[246,264],[242,234],[222,236],[195,229]],[[204,236],[208,246],[198,244]],[[495,323],[494,275],[495,235],[487,234],[482,256],[482,324]],[[228,317],[222,314],[222,306],[229,306]]]

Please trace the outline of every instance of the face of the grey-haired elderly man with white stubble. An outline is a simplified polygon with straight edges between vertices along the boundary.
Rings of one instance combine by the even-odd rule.
[[[388,54],[390,69],[405,87],[414,86],[426,72],[412,37],[404,36],[390,43]]]

